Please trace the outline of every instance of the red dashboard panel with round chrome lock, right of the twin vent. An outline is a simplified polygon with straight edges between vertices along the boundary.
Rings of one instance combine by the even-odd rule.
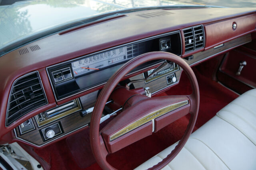
[[[232,28],[233,23],[236,23],[236,29]],[[256,14],[206,25],[204,28],[206,37],[205,49],[210,49],[226,41],[253,32],[255,27]]]

